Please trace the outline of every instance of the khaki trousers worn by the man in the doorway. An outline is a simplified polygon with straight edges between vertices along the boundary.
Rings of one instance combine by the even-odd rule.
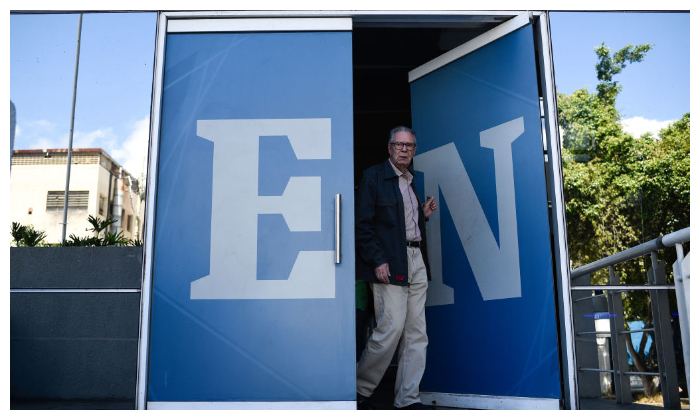
[[[399,366],[394,406],[420,402],[418,386],[425,371],[428,335],[425,297],[428,275],[420,248],[407,248],[408,286],[372,283],[377,327],[357,363],[357,393],[369,397],[391,363],[397,344]]]

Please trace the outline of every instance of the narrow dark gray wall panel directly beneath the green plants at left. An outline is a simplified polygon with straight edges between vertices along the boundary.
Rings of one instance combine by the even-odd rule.
[[[10,248],[11,289],[139,289],[142,248]]]

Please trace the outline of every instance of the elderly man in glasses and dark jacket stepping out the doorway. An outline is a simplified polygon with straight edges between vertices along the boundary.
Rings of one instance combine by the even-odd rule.
[[[394,406],[416,409],[422,408],[418,386],[428,347],[425,220],[436,204],[428,197],[421,205],[408,169],[415,132],[394,128],[388,149],[388,160],[364,172],[355,207],[357,277],[370,282],[377,321],[357,364],[357,401],[358,408],[371,408],[369,397],[399,345]]]

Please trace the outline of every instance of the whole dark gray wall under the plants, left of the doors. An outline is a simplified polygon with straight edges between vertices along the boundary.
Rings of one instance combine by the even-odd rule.
[[[11,399],[134,400],[141,264],[141,247],[10,248]]]

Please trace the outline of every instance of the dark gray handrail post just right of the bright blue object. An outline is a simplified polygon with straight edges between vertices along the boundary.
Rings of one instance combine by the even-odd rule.
[[[651,253],[651,268],[647,271],[649,284],[666,284],[666,270],[659,264],[656,251]],[[651,312],[654,319],[654,345],[659,360],[659,384],[664,398],[664,408],[680,410],[676,354],[671,334],[671,310],[666,290],[649,290]]]

